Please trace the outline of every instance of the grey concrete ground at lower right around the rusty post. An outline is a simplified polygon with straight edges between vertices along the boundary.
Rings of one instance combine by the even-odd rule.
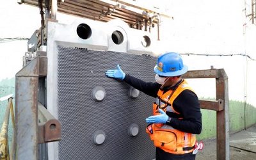
[[[197,160],[216,158],[216,139],[204,140],[204,149],[196,154]],[[230,159],[256,159],[256,125],[230,135]]]

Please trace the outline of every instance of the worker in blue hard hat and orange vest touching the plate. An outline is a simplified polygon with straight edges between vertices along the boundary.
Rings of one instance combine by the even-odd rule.
[[[178,53],[159,56],[154,67],[156,83],[125,74],[119,65],[106,76],[121,79],[141,92],[156,97],[146,131],[156,146],[156,160],[195,159],[196,136],[202,131],[202,114],[195,92],[182,74],[188,71]]]

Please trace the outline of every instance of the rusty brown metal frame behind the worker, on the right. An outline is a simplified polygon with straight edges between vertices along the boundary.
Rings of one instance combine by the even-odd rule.
[[[182,77],[216,79],[216,100],[200,100],[200,107],[216,111],[217,159],[229,159],[228,76],[225,70],[191,70]]]

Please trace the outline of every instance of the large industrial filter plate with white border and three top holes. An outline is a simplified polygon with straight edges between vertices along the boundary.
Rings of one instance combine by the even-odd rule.
[[[153,82],[151,45],[149,33],[120,20],[48,23],[47,109],[62,135],[48,144],[49,159],[154,159],[145,132],[154,98],[105,74],[119,64]]]

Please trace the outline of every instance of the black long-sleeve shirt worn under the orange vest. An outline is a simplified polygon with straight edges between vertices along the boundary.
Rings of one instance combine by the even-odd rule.
[[[157,97],[157,92],[161,87],[161,84],[147,83],[141,79],[132,77],[129,74],[125,75],[124,81],[152,97]],[[176,86],[173,87],[175,88]],[[164,88],[164,92],[170,89],[172,88]],[[179,131],[200,134],[202,131],[202,114],[198,97],[194,92],[191,90],[182,91],[173,101],[173,109],[178,111],[183,119],[171,118],[170,123],[166,122],[167,125],[171,125]]]

